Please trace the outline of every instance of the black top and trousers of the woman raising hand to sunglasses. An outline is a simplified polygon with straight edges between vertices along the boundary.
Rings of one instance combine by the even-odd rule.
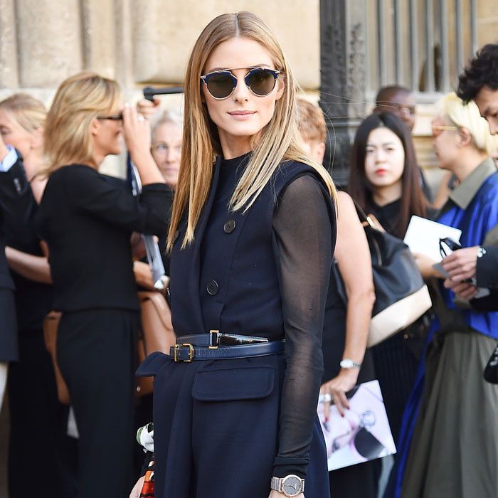
[[[72,164],[50,176],[36,216],[63,312],[58,363],[80,435],[79,498],[122,498],[132,486],[139,304],[129,238],[163,233],[166,203],[164,184],[134,198],[124,181]]]

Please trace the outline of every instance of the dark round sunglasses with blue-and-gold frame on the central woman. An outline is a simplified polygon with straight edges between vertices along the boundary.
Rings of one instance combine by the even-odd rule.
[[[232,73],[235,69],[243,68],[213,71],[201,76],[201,81],[206,85],[211,97],[223,100],[232,95],[233,90],[237,87],[237,77]],[[270,95],[275,88],[279,74],[279,70],[251,68],[244,76],[244,82],[256,97],[265,97],[265,95]]]

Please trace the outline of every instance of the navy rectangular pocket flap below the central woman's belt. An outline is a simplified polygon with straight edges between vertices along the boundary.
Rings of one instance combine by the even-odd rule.
[[[275,384],[275,369],[223,369],[199,371],[192,396],[198,401],[235,401],[270,396]]]

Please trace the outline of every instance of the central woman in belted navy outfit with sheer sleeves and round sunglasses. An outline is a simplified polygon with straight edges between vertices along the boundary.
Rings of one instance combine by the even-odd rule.
[[[297,83],[254,14],[204,28],[184,88],[168,238],[178,344],[139,369],[155,376],[156,497],[328,496],[332,180],[300,146]]]

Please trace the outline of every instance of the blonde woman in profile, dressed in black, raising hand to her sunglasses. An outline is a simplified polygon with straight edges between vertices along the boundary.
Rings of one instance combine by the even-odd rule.
[[[81,73],[58,88],[46,119],[48,182],[36,216],[50,252],[54,308],[63,315],[57,357],[78,426],[78,498],[122,498],[132,481],[134,369],[139,303],[130,235],[168,220],[150,128],[122,104],[117,83]],[[99,172],[122,152],[142,194]]]

